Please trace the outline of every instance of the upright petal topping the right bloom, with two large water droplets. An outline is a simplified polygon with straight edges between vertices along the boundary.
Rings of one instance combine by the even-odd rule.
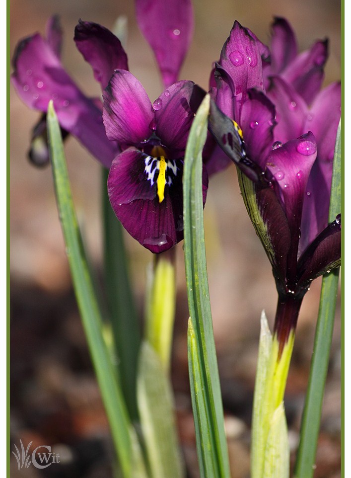
[[[223,45],[219,63],[231,77],[233,93],[240,104],[245,102],[249,88],[263,89],[259,46],[247,29],[237,21]]]

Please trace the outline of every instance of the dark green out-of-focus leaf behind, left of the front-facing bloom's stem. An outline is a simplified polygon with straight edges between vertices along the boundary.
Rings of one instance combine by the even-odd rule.
[[[130,287],[123,227],[116,218],[107,195],[108,170],[102,172],[102,212],[104,233],[104,279],[107,306],[118,356],[119,379],[132,420],[138,419],[136,402],[140,324]]]

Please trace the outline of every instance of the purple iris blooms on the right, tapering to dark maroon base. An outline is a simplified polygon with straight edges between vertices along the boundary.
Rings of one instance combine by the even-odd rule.
[[[212,77],[211,131],[238,166],[272,264],[281,346],[310,282],[340,264],[341,217],[328,224],[328,209],[341,93],[340,83],[320,91],[326,49],[297,55],[292,29],[276,19],[270,52],[235,22]]]

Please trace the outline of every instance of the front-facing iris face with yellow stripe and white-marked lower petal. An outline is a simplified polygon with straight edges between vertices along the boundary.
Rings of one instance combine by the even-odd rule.
[[[193,91],[192,81],[178,81],[151,104],[130,72],[116,70],[103,94],[107,136],[122,148],[108,177],[110,202],[125,229],[151,252],[183,239],[183,160]],[[204,203],[207,186],[204,166]]]

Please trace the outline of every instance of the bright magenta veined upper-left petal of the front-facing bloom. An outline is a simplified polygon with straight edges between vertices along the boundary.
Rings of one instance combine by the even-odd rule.
[[[116,70],[103,92],[107,137],[119,144],[139,145],[153,131],[155,113],[142,84],[126,70]]]

